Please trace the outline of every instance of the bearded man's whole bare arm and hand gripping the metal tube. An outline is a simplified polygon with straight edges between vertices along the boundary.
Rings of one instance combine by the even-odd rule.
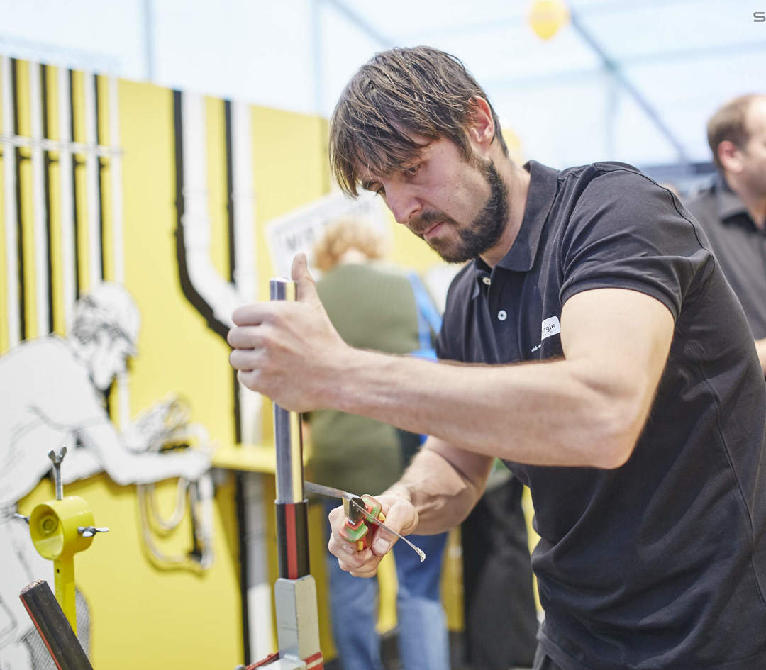
[[[633,451],[667,360],[673,314],[629,289],[576,293],[561,310],[556,361],[450,365],[346,345],[305,257],[296,302],[232,315],[237,378],[286,409],[320,408],[433,435],[460,449],[541,466],[617,468]]]

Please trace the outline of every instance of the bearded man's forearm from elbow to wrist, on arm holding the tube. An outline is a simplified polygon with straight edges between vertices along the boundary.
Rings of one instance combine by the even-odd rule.
[[[604,394],[568,361],[464,366],[353,350],[344,367],[343,381],[328,394],[333,408],[474,453],[597,466],[596,449],[613,439]]]

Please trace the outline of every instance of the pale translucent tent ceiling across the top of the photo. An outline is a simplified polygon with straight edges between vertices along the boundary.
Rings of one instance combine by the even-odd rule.
[[[760,3],[760,4],[759,4]],[[532,0],[0,0],[0,53],[329,116],[394,45],[460,57],[520,150],[552,165],[704,161],[705,122],[766,89],[766,0],[569,0],[548,41]]]

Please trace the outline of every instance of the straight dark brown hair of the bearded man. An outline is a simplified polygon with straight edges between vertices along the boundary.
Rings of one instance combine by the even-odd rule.
[[[342,190],[358,194],[360,166],[383,176],[413,161],[424,146],[413,135],[450,139],[470,160],[465,126],[477,97],[489,103],[460,60],[444,51],[411,47],[376,54],[352,77],[330,119],[330,165]],[[489,107],[495,137],[508,155]]]

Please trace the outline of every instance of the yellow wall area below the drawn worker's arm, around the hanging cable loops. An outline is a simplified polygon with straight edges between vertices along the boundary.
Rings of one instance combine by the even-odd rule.
[[[98,476],[67,486],[65,495],[85,498],[97,525],[110,528],[75,557],[75,577],[90,607],[94,668],[232,670],[241,662],[231,479],[216,496],[215,568],[200,574],[149,566],[136,527],[135,487]],[[45,481],[19,509],[28,514],[53,497]],[[189,543],[188,529],[179,528],[176,551]]]

